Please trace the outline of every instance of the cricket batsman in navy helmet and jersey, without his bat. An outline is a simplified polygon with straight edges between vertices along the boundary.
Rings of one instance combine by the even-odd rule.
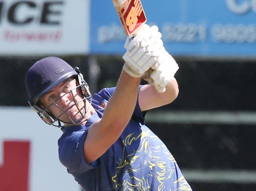
[[[26,74],[28,102],[63,131],[59,160],[85,191],[191,191],[144,119],[178,96],[178,65],[156,26],[143,25],[125,48],[117,86],[93,96],[78,67],[54,56],[37,61]],[[149,84],[140,85],[141,78]]]

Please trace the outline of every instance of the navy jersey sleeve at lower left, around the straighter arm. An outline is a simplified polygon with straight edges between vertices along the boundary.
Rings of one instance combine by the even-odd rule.
[[[88,164],[83,155],[83,145],[88,131],[74,131],[59,143],[59,160],[71,174],[82,174],[98,166],[98,160]]]

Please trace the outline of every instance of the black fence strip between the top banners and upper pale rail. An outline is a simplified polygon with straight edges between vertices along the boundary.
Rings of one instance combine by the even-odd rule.
[[[24,85],[26,71],[42,57],[0,58],[0,105],[27,106]],[[115,86],[122,69],[121,56],[61,57],[80,67],[89,82],[89,63],[96,62],[95,91]],[[93,59],[95,58],[95,60]],[[180,69],[176,75],[180,94],[169,106],[175,110],[246,110],[254,111],[256,102],[256,60],[207,60],[176,58]],[[94,71],[92,69],[91,71]],[[90,71],[90,72],[91,72]],[[90,85],[90,82],[89,82]]]

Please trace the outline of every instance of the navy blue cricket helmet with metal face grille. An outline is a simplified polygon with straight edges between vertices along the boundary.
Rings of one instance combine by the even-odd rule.
[[[80,111],[81,118],[77,121],[73,121],[68,114],[63,111],[61,115],[67,115],[70,119],[70,122],[65,122],[66,125],[63,125],[61,123],[62,121],[59,120],[59,116],[54,116],[48,111],[50,106],[57,106],[57,100],[44,108],[41,106],[40,98],[68,78],[76,79],[78,82],[76,88],[81,89],[84,102],[85,99],[91,98],[91,92],[87,83],[83,79],[83,75],[80,73],[79,68],[72,68],[67,62],[58,57],[50,56],[37,61],[34,65],[32,65],[32,67],[30,67],[26,74],[25,84],[29,96],[28,103],[47,124],[57,127],[64,127],[67,126],[67,124],[75,125],[80,122],[86,114],[86,109],[85,113]],[[74,105],[76,104],[77,103],[75,102]]]

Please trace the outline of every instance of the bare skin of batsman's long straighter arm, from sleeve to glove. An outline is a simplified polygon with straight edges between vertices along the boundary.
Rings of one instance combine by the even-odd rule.
[[[90,127],[85,138],[84,157],[87,163],[103,155],[122,134],[132,117],[140,81],[141,78],[134,78],[122,71],[102,119]]]

